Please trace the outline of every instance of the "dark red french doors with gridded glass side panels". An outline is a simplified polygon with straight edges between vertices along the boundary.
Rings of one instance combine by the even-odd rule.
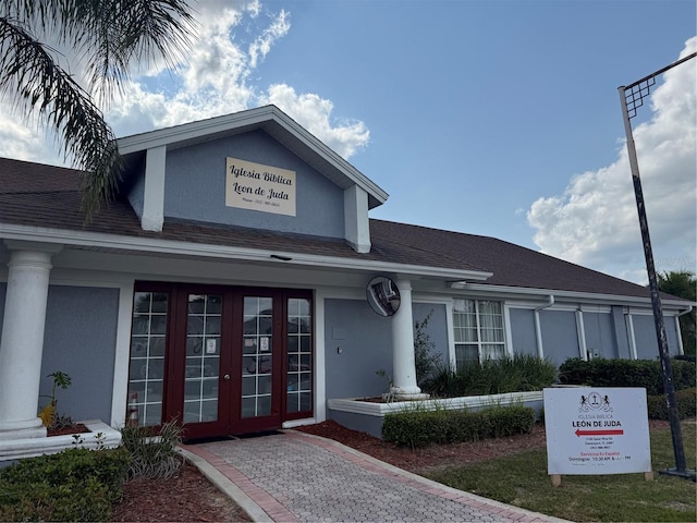
[[[193,439],[280,428],[311,415],[308,292],[151,284],[155,293],[139,287],[148,285],[136,287],[130,391],[144,393],[140,423],[178,419]],[[143,355],[149,357],[155,342],[159,352],[148,361]],[[149,393],[154,387],[159,396]]]

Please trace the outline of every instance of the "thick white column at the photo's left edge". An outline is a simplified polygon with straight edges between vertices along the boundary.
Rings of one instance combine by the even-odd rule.
[[[17,245],[8,242],[10,248]],[[10,256],[0,339],[0,439],[46,436],[37,408],[51,255],[58,250],[22,246]]]

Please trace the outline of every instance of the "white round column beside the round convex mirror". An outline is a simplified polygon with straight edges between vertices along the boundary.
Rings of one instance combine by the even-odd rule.
[[[428,398],[416,385],[412,282],[398,279],[395,283],[400,290],[400,308],[392,316],[392,392],[398,399]]]

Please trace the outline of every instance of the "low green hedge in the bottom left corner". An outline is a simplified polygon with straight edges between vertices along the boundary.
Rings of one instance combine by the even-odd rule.
[[[109,521],[130,461],[124,448],[21,460],[0,470],[0,521]]]

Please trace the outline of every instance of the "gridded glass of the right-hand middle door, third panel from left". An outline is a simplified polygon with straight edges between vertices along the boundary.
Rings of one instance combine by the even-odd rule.
[[[242,417],[271,414],[273,300],[244,297]]]

